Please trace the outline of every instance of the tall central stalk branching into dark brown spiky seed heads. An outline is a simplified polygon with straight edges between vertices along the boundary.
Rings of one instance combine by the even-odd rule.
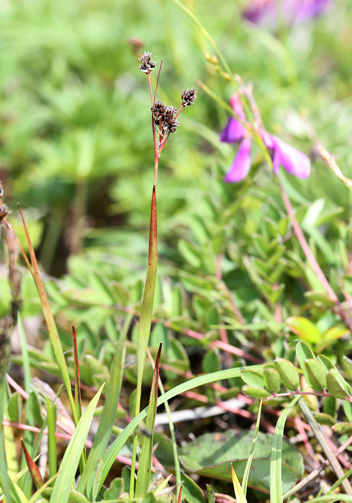
[[[143,293],[141,315],[138,326],[137,335],[137,392],[136,392],[136,406],[135,416],[140,411],[140,401],[142,392],[142,377],[147,352],[147,346],[150,334],[150,325],[152,321],[156,272],[157,272],[157,222],[156,222],[156,182],[159,166],[159,158],[171,133],[175,133],[177,127],[180,125],[178,117],[184,107],[189,107],[195,102],[197,91],[195,88],[183,90],[181,94],[181,106],[179,110],[172,106],[166,106],[161,101],[156,101],[156,92],[161,72],[162,60],[160,62],[157,82],[155,91],[151,85],[150,73],[155,68],[155,61],[152,60],[150,52],[144,52],[139,58],[139,69],[146,73],[148,78],[148,87],[150,93],[151,112],[152,112],[152,133],[154,142],[154,182],[151,200],[150,212],[150,228],[149,228],[149,249],[148,249],[148,265],[146,273],[146,282]],[[158,134],[157,134],[158,133]],[[136,465],[136,452],[137,452],[138,431],[134,431],[133,437],[133,450],[132,450],[132,463],[131,463],[131,480],[130,480],[130,499],[133,499],[134,494],[134,473]]]

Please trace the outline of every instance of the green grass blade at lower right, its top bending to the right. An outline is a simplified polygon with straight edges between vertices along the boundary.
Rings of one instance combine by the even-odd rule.
[[[284,426],[292,407],[301,398],[300,395],[296,396],[291,404],[283,411],[275,427],[272,456],[270,460],[270,501],[271,503],[282,503],[282,445]]]

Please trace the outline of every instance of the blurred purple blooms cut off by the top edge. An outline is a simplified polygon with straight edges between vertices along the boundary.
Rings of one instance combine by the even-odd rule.
[[[242,17],[254,24],[275,25],[282,14],[288,25],[302,23],[324,13],[332,0],[250,0],[242,12]]]

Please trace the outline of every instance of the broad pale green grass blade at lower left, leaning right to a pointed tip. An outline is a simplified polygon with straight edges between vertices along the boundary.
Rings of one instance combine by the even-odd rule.
[[[60,501],[60,503],[67,503],[69,492],[72,486],[72,481],[74,479],[74,474],[76,473],[79,458],[81,456],[81,452],[92,423],[93,414],[102,393],[104,384],[101,386],[98,393],[91,400],[90,404],[83,412],[82,417],[80,418],[74,434],[67,446],[60,464],[54,489],[50,497],[51,503],[57,503],[58,501]]]

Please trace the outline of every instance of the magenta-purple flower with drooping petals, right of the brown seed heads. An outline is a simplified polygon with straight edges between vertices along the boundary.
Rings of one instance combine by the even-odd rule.
[[[235,114],[244,120],[242,103],[237,93],[230,98],[230,104]],[[291,147],[291,145],[280,140],[280,138],[272,136],[262,128],[258,129],[258,133],[266,147],[272,153],[275,175],[278,174],[279,167],[282,165],[288,173],[298,178],[309,177],[310,160],[303,152]],[[220,139],[227,143],[241,142],[230,169],[224,178],[225,182],[241,182],[246,178],[250,170],[251,138],[248,137],[244,126],[234,117],[230,117],[220,134]]]

